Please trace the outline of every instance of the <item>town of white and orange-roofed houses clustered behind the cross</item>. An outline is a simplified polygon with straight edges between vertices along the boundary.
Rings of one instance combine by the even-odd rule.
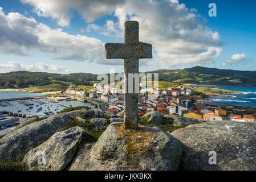
[[[146,83],[140,83],[145,88]],[[107,86],[94,84],[88,92],[68,88],[67,95],[89,97],[107,102],[109,107],[105,110],[107,115],[117,115],[124,109],[124,91]],[[229,109],[222,109],[221,106],[209,106],[204,100],[192,98],[194,89],[192,87],[178,86],[168,89],[150,88],[141,89],[139,93],[139,117],[151,111],[161,114],[180,115],[182,117],[204,119],[205,121],[239,121],[255,122],[256,114],[246,114],[245,109],[237,109],[234,106],[226,106]],[[183,96],[186,96],[185,98]],[[121,114],[119,114],[121,115]]]

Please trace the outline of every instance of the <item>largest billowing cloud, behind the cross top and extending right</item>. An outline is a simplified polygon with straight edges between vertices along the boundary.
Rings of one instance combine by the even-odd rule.
[[[123,38],[125,20],[137,20],[140,41],[153,45],[154,58],[163,67],[213,63],[222,52],[220,35],[204,27],[196,15],[189,12],[178,1],[130,0],[116,8],[118,20],[108,20],[103,34]]]

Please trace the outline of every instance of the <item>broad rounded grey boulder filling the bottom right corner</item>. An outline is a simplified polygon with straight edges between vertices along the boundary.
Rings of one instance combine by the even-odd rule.
[[[230,131],[225,125],[232,126]],[[231,131],[232,130],[232,131]],[[214,121],[170,133],[182,143],[181,168],[186,170],[256,170],[256,123]],[[210,151],[217,165],[210,165]]]

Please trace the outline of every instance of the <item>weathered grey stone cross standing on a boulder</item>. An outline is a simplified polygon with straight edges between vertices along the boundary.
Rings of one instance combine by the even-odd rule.
[[[124,23],[124,43],[105,44],[107,59],[124,59],[124,129],[137,129],[138,126],[138,93],[135,83],[128,80],[129,73],[139,74],[139,59],[152,58],[152,45],[139,42],[139,23]],[[132,81],[132,93],[128,93],[129,82]]]

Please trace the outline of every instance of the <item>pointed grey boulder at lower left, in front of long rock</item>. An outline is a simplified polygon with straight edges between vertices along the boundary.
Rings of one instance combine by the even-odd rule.
[[[57,132],[46,142],[27,152],[22,163],[30,170],[63,170],[74,158],[78,150],[79,139],[82,138],[85,132],[82,127],[72,127]]]

